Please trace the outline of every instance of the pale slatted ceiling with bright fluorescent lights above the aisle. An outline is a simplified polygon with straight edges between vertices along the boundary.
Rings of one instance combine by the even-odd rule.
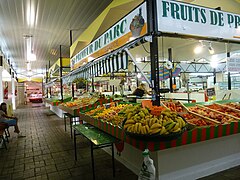
[[[31,62],[31,69],[34,73],[43,73],[46,66],[49,67],[49,61],[52,65],[59,58],[60,45],[62,56],[69,57],[70,29],[73,30],[74,42],[112,1],[0,0],[1,49],[17,75],[26,75],[27,43],[24,36],[32,35],[32,49],[37,60]],[[182,1],[211,8],[220,6],[224,11],[240,14],[239,0]],[[111,23],[105,21],[105,25],[110,26]]]

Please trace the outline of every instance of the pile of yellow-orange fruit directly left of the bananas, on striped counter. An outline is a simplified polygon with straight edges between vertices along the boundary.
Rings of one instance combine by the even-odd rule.
[[[123,109],[128,109],[131,104],[119,104],[118,106],[112,106],[110,108],[104,108],[102,112],[93,116],[96,119],[100,119],[104,122],[109,122],[113,125],[121,125],[125,116],[118,113]]]

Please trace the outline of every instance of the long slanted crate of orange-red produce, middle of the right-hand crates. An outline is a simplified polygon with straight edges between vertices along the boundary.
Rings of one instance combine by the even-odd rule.
[[[214,112],[210,108],[194,106],[194,107],[190,107],[189,110],[193,111],[197,114],[200,114],[204,117],[207,117],[207,118],[213,119],[215,121],[218,121],[221,124],[227,124],[227,123],[230,123],[232,121],[235,121],[234,118],[229,117],[229,116],[224,115],[224,114],[219,113],[219,112]]]

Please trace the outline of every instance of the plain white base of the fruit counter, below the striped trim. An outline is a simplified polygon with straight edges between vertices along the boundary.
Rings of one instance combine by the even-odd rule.
[[[235,134],[151,152],[156,179],[193,180],[240,165],[239,139],[240,134]],[[105,150],[111,154],[109,148]],[[115,158],[138,175],[143,160],[140,150],[125,143],[121,156]]]

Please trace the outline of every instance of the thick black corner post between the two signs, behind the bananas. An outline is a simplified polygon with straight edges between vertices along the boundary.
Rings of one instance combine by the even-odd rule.
[[[151,59],[151,84],[153,105],[160,106],[159,93],[159,60],[158,60],[158,36],[157,36],[157,9],[155,0],[147,0],[148,33],[152,33],[150,42]]]

